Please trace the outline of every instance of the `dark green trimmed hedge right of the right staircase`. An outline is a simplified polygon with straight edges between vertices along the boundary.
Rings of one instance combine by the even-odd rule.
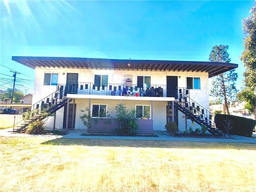
[[[232,120],[232,129],[230,130],[230,134],[232,135],[240,135],[251,137],[254,127],[256,125],[256,121],[253,119],[239,117],[234,115],[224,115],[224,114],[216,114],[214,117],[214,122],[216,127],[222,132],[226,132],[223,126],[223,120]]]

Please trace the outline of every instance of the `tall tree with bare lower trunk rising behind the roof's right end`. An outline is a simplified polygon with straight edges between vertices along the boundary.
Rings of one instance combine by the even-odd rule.
[[[223,62],[229,63],[230,58],[228,54],[228,45],[216,45],[212,47],[209,55],[211,62]],[[236,98],[236,80],[237,73],[235,70],[219,74],[212,80],[211,96],[215,97],[216,100],[224,100],[226,113],[229,115],[228,104],[230,101],[234,101]]]

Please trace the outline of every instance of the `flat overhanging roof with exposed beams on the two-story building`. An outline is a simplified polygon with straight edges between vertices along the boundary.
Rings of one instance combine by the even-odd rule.
[[[130,60],[74,57],[29,57],[12,56],[12,60],[32,69],[39,68],[82,68],[98,70],[134,71],[182,71],[208,72],[216,76],[238,67],[238,64],[202,61]]]

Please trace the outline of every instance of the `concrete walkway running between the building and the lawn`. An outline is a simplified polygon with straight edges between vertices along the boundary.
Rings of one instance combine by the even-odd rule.
[[[154,131],[154,135],[157,137],[149,137],[149,136],[82,136],[83,133],[86,133],[86,129],[76,129],[76,130],[68,130],[68,134],[66,135],[29,135],[23,133],[14,133],[10,132],[12,128],[2,129],[0,130],[0,136],[7,137],[46,137],[50,139],[55,138],[74,138],[74,139],[128,139],[128,140],[163,140],[163,141],[194,141],[194,142],[236,142],[236,143],[255,143],[256,139],[248,138],[243,136],[232,135],[232,138],[179,138],[172,137],[166,131]],[[60,130],[64,131],[64,130]],[[255,135],[255,134],[254,134]]]

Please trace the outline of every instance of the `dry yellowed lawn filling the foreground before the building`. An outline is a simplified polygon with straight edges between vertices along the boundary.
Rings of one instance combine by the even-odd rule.
[[[8,137],[0,144],[0,191],[256,190],[252,144]]]

